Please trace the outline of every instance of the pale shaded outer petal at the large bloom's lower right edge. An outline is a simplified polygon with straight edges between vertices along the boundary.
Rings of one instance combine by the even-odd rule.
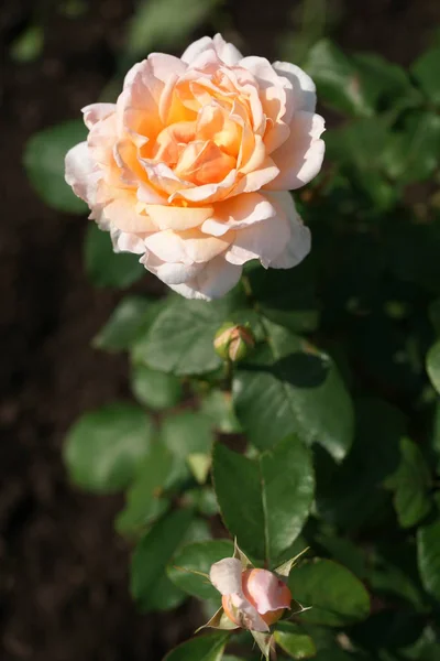
[[[285,249],[274,260],[271,261],[272,269],[292,269],[299,264],[310,252],[311,235],[297,214],[294,198],[290,193],[267,193],[272,204],[278,208],[278,213],[284,212],[290,223],[290,239]]]

